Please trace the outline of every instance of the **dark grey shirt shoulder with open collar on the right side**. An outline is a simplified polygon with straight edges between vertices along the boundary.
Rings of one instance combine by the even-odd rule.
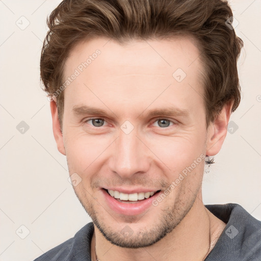
[[[226,223],[207,261],[261,260],[261,221],[239,204],[206,205],[206,208]]]

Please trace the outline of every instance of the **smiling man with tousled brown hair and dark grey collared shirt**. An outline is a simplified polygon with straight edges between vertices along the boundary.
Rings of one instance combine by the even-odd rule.
[[[261,222],[202,202],[205,161],[240,102],[231,21],[221,0],[71,0],[51,13],[41,79],[93,222],[37,261],[261,260]]]

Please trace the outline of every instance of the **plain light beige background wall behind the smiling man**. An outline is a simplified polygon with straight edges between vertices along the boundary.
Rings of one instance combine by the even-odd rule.
[[[40,88],[45,21],[59,3],[0,0],[1,261],[33,260],[91,221],[68,181],[66,158],[56,148],[49,102]],[[261,2],[230,3],[245,43],[239,61],[243,97],[231,117],[238,129],[227,133],[204,177],[203,202],[239,203],[260,220]],[[23,134],[16,128],[21,121],[29,125]]]

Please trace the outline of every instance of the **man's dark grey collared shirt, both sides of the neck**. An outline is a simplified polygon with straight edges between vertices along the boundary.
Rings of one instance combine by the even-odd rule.
[[[238,204],[205,205],[226,223],[218,242],[205,261],[261,261],[261,222]],[[90,222],[73,238],[47,251],[34,261],[91,261]],[[159,260],[160,261],[160,260]]]

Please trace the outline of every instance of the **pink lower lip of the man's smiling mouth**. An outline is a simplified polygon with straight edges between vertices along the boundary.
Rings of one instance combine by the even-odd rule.
[[[105,196],[106,202],[114,212],[127,216],[135,216],[143,213],[152,205],[152,201],[159,196],[159,193],[155,193],[149,198],[138,200],[137,203],[123,203],[109,195],[105,189],[101,189],[101,191]]]

